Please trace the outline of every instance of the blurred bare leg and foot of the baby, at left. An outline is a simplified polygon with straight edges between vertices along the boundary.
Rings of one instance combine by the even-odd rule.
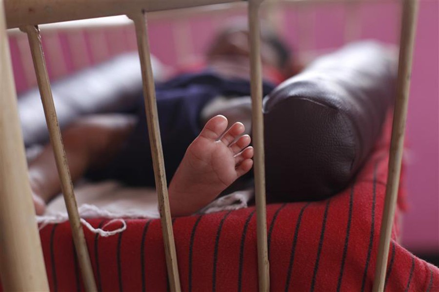
[[[97,115],[83,118],[62,133],[72,181],[88,170],[102,168],[123,145],[135,119],[127,115]],[[60,180],[51,145],[29,164],[29,178],[37,214],[60,192]]]

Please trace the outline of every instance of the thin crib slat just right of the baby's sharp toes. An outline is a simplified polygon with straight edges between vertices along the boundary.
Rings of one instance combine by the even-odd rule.
[[[259,33],[259,0],[248,2],[249,43],[250,43],[250,72],[252,95],[252,128],[256,214],[257,214],[257,239],[258,239],[258,270],[259,291],[270,290],[270,267],[267,248],[267,219],[265,202],[265,158],[264,158],[264,128],[262,115],[262,73],[260,59],[260,33]]]

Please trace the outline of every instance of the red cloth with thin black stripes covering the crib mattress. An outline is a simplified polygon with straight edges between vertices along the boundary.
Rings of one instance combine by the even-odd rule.
[[[388,140],[379,141],[355,182],[339,195],[267,206],[271,291],[372,289]],[[94,227],[107,221],[89,220]],[[254,207],[178,218],[173,225],[183,291],[258,290]],[[439,291],[439,269],[401,247],[397,227],[385,291]],[[84,232],[99,290],[169,290],[159,219],[129,219],[127,229],[112,237]],[[40,235],[50,289],[83,291],[69,223],[49,225]]]

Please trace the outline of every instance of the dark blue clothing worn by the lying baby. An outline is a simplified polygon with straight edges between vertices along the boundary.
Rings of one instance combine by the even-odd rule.
[[[274,85],[264,82],[264,95],[273,89]],[[168,182],[177,170],[186,148],[200,133],[200,112],[203,107],[218,96],[246,95],[250,95],[248,80],[225,79],[209,71],[182,74],[157,85],[157,110]],[[151,148],[141,96],[137,110],[139,120],[124,147],[105,169],[89,173],[89,178],[115,179],[135,186],[154,186]]]

